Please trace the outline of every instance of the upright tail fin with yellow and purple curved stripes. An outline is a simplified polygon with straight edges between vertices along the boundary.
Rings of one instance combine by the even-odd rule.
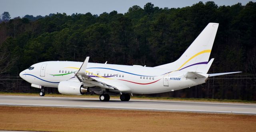
[[[213,61],[208,62],[218,26],[219,23],[209,23],[178,60],[156,67],[207,73]]]

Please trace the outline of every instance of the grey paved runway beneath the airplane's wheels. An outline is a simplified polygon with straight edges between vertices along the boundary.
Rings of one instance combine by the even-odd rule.
[[[196,113],[234,113],[234,114],[256,115],[256,104],[244,104],[244,103],[158,101],[158,100],[137,100],[137,99],[131,99],[128,102],[120,101],[119,99],[110,99],[109,102],[101,102],[97,98],[0,95],[0,105],[180,111],[180,112],[196,112]]]

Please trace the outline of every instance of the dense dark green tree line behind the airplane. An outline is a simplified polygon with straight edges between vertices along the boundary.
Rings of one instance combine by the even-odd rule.
[[[178,59],[204,27],[220,23],[208,73],[242,71],[241,78],[208,80],[191,89],[152,96],[256,100],[256,2],[218,6],[198,2],[184,8],[147,3],[93,15],[26,15],[0,23],[0,76],[18,73],[37,62],[83,61],[158,66]],[[248,76],[250,75],[250,76]],[[0,84],[1,86],[1,84]]]

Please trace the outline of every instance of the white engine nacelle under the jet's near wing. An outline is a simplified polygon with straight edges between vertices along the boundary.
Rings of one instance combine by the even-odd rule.
[[[58,85],[58,91],[68,95],[83,95],[87,89],[84,89],[83,85],[78,82],[61,81]]]

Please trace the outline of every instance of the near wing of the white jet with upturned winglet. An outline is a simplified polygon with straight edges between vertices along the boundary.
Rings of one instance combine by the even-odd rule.
[[[117,83],[117,80],[97,80],[94,78],[91,78],[85,74],[86,68],[88,65],[89,57],[86,57],[84,60],[82,66],[78,70],[78,72],[75,74],[75,77],[83,83],[84,86],[86,87],[93,87],[93,86],[98,86],[103,89],[115,89],[120,92],[124,91],[130,91],[130,88],[127,87],[126,85],[122,83]],[[98,75],[94,75],[98,76]],[[100,77],[100,76],[98,76]]]

